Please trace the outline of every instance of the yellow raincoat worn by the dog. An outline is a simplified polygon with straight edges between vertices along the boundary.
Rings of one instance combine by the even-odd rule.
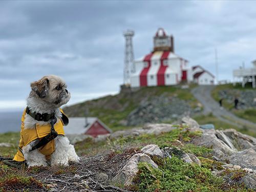
[[[62,113],[62,116],[67,116],[63,113],[63,111],[60,109],[60,112]],[[24,129],[24,120],[26,115],[26,109],[23,112],[22,115],[22,126],[20,131],[20,140],[18,145],[18,150],[16,155],[14,156],[13,160],[15,161],[24,161],[24,155],[22,153],[22,148],[29,144],[31,141],[34,141],[36,139],[40,139],[42,137],[47,136],[51,132],[51,124],[47,125],[38,125],[35,124],[35,127],[33,129]],[[65,135],[64,129],[63,129],[63,120],[58,120],[54,124],[54,129],[58,133],[58,135]],[[39,152],[44,154],[46,156],[46,159],[49,159],[51,157],[51,154],[55,151],[55,143],[54,139],[51,140],[46,145],[38,148]]]

